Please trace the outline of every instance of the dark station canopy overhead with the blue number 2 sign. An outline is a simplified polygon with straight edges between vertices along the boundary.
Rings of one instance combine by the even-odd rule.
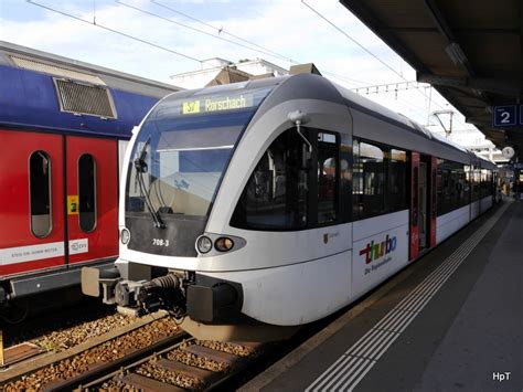
[[[523,1],[340,2],[416,70],[418,82],[523,161]]]

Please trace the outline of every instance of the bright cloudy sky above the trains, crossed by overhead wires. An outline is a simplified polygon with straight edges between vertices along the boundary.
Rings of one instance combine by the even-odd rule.
[[[348,88],[416,78],[335,0],[0,0],[0,40],[166,83],[212,57],[314,63]],[[452,109],[428,87],[367,97],[436,131],[429,114]]]

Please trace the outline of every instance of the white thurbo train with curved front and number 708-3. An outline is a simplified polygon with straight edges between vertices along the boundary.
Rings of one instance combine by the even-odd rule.
[[[119,276],[84,271],[84,292],[206,339],[285,338],[497,194],[492,162],[310,74],[174,93],[126,161]]]

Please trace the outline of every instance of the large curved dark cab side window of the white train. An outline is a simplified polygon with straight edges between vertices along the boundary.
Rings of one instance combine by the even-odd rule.
[[[302,134],[308,137],[309,131],[302,129]],[[307,227],[310,168],[308,146],[296,129],[282,133],[254,169],[231,225],[276,231]]]

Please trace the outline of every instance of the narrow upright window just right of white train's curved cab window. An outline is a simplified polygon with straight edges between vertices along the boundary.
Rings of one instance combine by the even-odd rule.
[[[318,133],[318,224],[338,218],[338,139],[334,134]]]

